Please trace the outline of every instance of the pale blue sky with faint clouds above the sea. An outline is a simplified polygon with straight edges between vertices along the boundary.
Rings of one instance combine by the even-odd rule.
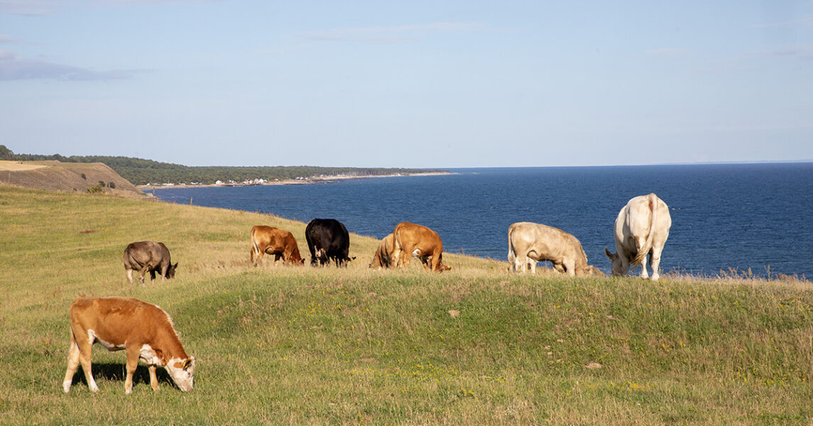
[[[813,1],[0,0],[0,145],[188,166],[813,161]]]

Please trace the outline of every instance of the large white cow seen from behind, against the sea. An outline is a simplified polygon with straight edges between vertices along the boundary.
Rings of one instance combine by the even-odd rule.
[[[615,253],[606,247],[604,252],[611,260],[612,275],[627,275],[630,265],[633,271],[641,264],[641,278],[647,279],[646,255],[650,256],[652,280],[658,280],[658,268],[663,245],[672,228],[669,206],[654,193],[635,197],[618,213],[615,219]]]

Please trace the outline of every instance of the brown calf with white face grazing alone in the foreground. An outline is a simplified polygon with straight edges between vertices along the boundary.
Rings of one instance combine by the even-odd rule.
[[[184,392],[192,390],[195,359],[184,346],[166,311],[152,303],[134,298],[78,298],[69,310],[71,343],[67,351],[67,370],[62,389],[71,390],[73,374],[79,364],[92,392],[98,392],[90,370],[93,344],[107,350],[127,352],[127,378],[124,393],[133,392],[133,373],[139,359],[149,366],[150,387],[158,390],[156,367],[167,369],[172,381]]]

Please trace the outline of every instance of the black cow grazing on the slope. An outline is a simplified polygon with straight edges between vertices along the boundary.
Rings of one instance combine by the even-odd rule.
[[[311,251],[311,266],[319,261],[321,266],[333,259],[340,267],[355,258],[347,257],[350,252],[350,234],[345,225],[335,219],[314,219],[305,228],[307,249]]]

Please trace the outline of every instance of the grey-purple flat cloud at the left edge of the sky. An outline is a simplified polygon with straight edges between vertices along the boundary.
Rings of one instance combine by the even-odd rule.
[[[118,80],[131,78],[134,71],[93,71],[89,68],[21,58],[11,50],[0,50],[0,81],[9,80]]]

